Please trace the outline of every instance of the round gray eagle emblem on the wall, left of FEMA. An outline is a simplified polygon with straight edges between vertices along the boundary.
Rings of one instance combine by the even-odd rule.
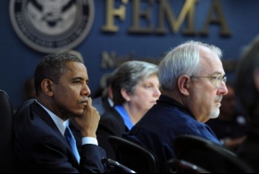
[[[43,53],[78,46],[94,21],[93,0],[10,0],[13,29],[29,47]]]

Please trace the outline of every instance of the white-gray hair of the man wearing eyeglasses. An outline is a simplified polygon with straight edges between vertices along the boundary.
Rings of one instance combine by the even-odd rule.
[[[221,59],[221,49],[217,46],[193,40],[176,46],[165,55],[159,64],[159,83],[162,90],[173,91],[177,79],[183,74],[192,76],[200,73],[200,46],[213,50]]]

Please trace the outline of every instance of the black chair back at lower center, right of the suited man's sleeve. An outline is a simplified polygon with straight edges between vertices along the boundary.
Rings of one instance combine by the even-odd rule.
[[[155,154],[146,148],[122,137],[110,136],[108,141],[113,146],[117,162],[137,173],[158,173]]]

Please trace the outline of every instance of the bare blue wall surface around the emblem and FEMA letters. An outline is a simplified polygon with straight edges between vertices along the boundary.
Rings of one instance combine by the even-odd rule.
[[[101,30],[105,24],[105,6],[108,1],[94,0],[95,19],[88,36],[74,50],[79,51],[84,57],[85,64],[88,68],[90,79],[89,87],[92,94],[95,94],[100,79],[105,73],[111,72],[115,67],[102,68],[103,53],[115,53],[114,60],[119,62],[131,56],[133,59],[154,59],[158,60],[164,53],[168,52],[171,47],[179,45],[188,39],[196,39],[205,43],[221,47],[223,50],[223,60],[237,61],[242,48],[246,46],[259,31],[259,1],[258,0],[221,0],[221,9],[223,10],[224,19],[231,31],[230,37],[220,36],[220,26],[211,25],[208,36],[200,35],[185,36],[183,29],[186,28],[185,22],[181,25],[179,32],[173,33],[168,21],[165,27],[167,34],[158,35],[155,32],[150,34],[132,34],[128,29],[132,22],[132,2],[129,0],[125,5],[125,20],[114,18],[114,24],[119,30],[114,33],[104,32]],[[113,0],[114,8],[119,8],[123,0]],[[127,1],[126,1],[127,2]],[[147,0],[139,1],[142,10],[146,8]],[[158,25],[158,8],[157,0],[152,6],[152,24]],[[182,9],[185,0],[170,0],[171,10],[177,17]],[[23,43],[20,37],[13,30],[9,16],[9,0],[0,1],[0,88],[4,89],[10,96],[14,109],[16,109],[24,100],[22,87],[24,81],[33,75],[41,58],[45,53],[38,52]],[[197,31],[203,28],[209,9],[213,0],[199,0],[195,8],[195,29]],[[145,21],[142,21],[145,25]],[[230,79],[233,79],[234,72],[228,71]]]

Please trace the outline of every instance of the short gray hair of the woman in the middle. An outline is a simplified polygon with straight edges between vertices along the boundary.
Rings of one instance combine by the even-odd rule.
[[[151,75],[158,76],[158,66],[153,63],[142,61],[123,62],[114,70],[113,78],[111,79],[114,104],[123,104],[125,102],[121,95],[122,88],[129,94],[133,94],[138,82]]]

